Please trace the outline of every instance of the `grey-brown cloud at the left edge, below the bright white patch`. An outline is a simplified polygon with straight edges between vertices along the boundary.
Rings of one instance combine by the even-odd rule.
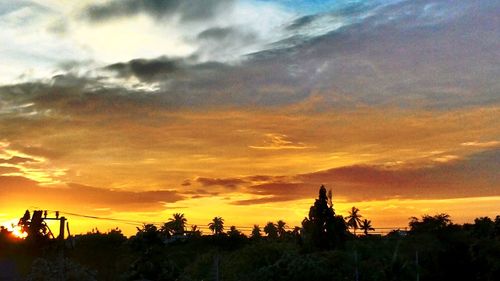
[[[0,96],[4,102],[23,109],[22,114],[15,112],[5,118],[10,118],[12,122],[27,121],[26,126],[29,121],[37,122],[41,119],[64,122],[65,118],[56,118],[59,114],[85,115],[91,119],[102,115],[111,117],[111,113],[121,115],[130,114],[130,111],[143,112],[155,104],[161,106],[155,95],[145,96],[142,93],[140,90],[106,84],[101,78],[71,74],[54,76],[49,82],[0,87]],[[22,107],[23,104],[30,106]],[[8,125],[5,122],[2,124]]]

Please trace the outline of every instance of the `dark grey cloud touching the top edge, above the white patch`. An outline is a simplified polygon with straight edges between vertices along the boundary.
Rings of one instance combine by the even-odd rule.
[[[202,21],[233,4],[233,0],[112,0],[90,5],[85,15],[94,22],[132,16],[139,13],[157,19],[178,16],[183,21]]]

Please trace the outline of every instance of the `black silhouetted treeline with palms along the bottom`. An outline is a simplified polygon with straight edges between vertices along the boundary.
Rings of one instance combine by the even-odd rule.
[[[408,231],[370,235],[370,225],[351,234],[360,217],[355,208],[336,215],[321,188],[300,227],[270,222],[249,235],[221,217],[203,235],[183,214],[130,238],[115,229],[35,242],[3,229],[0,277],[3,269],[19,280],[500,280],[500,216],[458,225],[425,215]]]

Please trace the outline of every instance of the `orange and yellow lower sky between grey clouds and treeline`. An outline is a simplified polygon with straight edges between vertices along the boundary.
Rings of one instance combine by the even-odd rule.
[[[147,117],[162,120],[154,124],[72,120],[79,126],[49,127],[56,135],[17,135],[17,147],[1,147],[2,219],[40,207],[145,222],[181,212],[200,225],[222,216],[228,224],[292,226],[321,184],[333,190],[337,213],[354,205],[379,227],[422,214],[463,222],[498,211],[499,108],[221,110],[156,112]],[[135,229],[70,221],[75,232]]]

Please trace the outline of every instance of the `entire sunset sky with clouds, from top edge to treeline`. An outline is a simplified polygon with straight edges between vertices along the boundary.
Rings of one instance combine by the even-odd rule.
[[[500,214],[498,0],[0,0],[0,62],[0,224]]]

